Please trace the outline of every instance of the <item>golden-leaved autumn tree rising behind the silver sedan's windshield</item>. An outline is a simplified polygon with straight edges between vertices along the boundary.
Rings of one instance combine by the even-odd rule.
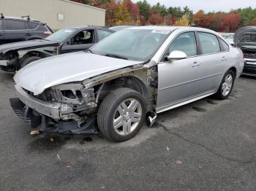
[[[131,21],[131,15],[124,3],[118,5],[114,17],[117,25],[127,24]]]

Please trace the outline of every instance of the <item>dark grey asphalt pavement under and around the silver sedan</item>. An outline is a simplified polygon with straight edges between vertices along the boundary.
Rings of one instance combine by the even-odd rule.
[[[159,114],[113,143],[98,136],[29,136],[0,72],[0,190],[256,190],[256,78],[225,101],[205,98]]]

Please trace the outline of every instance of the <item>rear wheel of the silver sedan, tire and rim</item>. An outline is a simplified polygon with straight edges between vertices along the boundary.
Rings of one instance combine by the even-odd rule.
[[[233,90],[234,82],[235,82],[235,74],[232,70],[228,70],[225,73],[221,84],[219,85],[219,89],[216,93],[217,99],[224,100],[228,98],[228,96]]]

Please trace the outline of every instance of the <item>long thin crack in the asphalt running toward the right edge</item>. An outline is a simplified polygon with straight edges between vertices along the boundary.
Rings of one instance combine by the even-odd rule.
[[[189,143],[191,143],[191,144],[195,144],[195,145],[197,145],[197,146],[199,146],[199,147],[203,147],[203,148],[206,149],[208,152],[211,152],[213,155],[216,155],[216,156],[218,156],[218,157],[224,158],[225,160],[230,160],[230,161],[232,161],[232,162],[235,162],[235,163],[242,163],[242,164],[248,164],[248,163],[254,163],[254,162],[256,162],[256,160],[253,160],[253,158],[250,159],[250,160],[239,160],[239,159],[236,159],[236,158],[226,157],[226,156],[224,156],[224,155],[222,155],[222,154],[219,154],[218,152],[215,152],[214,150],[210,149],[209,147],[207,147],[207,146],[204,145],[204,144],[200,144],[199,142],[196,142],[196,141],[191,141],[191,140],[189,140],[189,139],[187,139],[187,138],[181,136],[181,135],[178,134],[178,133],[171,132],[170,130],[168,130],[168,128],[167,128],[165,125],[162,125],[162,123],[155,122],[155,124],[156,124],[157,126],[162,127],[163,130],[165,130],[167,133],[169,133],[169,134],[171,134],[171,135],[173,135],[173,136],[176,136],[176,137],[178,137],[179,139],[182,139],[182,140],[184,140],[184,141],[187,141],[187,142],[189,142]]]

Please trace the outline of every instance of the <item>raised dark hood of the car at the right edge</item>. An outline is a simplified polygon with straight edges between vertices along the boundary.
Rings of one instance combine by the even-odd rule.
[[[239,28],[234,36],[234,44],[236,47],[246,45],[256,45],[256,26],[246,26]]]

